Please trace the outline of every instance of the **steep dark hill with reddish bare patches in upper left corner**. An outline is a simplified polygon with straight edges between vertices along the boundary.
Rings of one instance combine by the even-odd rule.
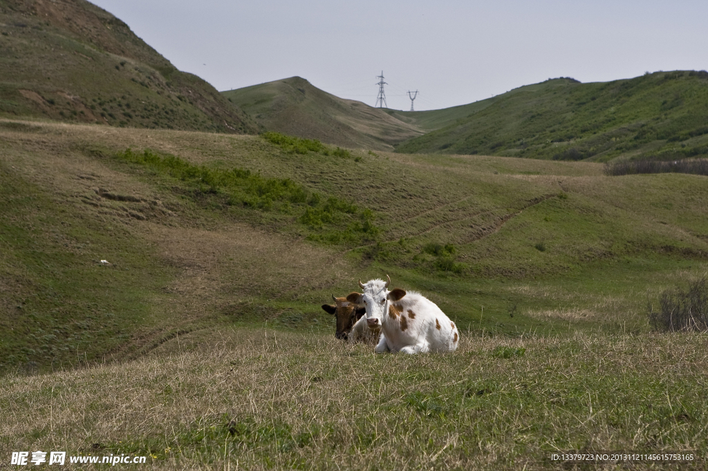
[[[0,0],[0,116],[257,130],[209,83],[175,69],[125,23],[85,0]]]

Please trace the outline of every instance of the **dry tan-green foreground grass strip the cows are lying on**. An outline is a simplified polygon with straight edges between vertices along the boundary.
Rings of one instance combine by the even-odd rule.
[[[197,351],[6,376],[1,454],[249,470],[536,470],[569,449],[706,457],[700,335],[463,339],[452,355],[375,355],[330,335],[227,330]]]

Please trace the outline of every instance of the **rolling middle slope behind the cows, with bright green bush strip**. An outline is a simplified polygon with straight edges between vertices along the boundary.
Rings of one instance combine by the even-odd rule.
[[[321,303],[386,274],[466,335],[643,332],[648,300],[706,272],[701,176],[313,149],[0,120],[0,368],[219,325],[333,335]]]

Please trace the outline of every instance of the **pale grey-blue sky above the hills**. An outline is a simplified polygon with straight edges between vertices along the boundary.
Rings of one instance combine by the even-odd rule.
[[[702,0],[93,0],[217,90],[291,76],[374,105],[464,105],[560,76],[708,69]]]

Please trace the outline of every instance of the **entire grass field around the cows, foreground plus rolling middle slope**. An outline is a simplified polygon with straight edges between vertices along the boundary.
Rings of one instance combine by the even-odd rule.
[[[3,456],[705,458],[705,339],[647,318],[661,291],[708,272],[705,177],[274,142],[0,120]],[[456,322],[459,351],[375,356],[334,339],[319,306],[386,274]]]

